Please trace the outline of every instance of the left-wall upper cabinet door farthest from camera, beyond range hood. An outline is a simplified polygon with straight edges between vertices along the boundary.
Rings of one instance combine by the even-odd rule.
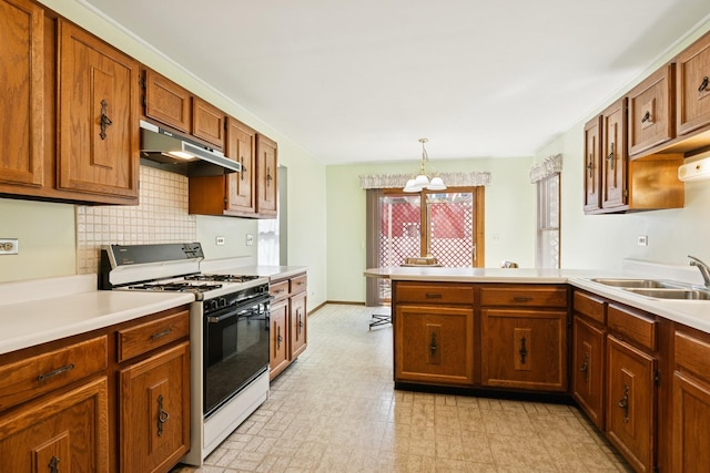
[[[278,212],[278,156],[276,142],[256,135],[256,212],[261,217],[275,217]]]

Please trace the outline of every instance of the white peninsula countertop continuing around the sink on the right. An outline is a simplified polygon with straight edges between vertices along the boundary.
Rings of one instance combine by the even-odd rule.
[[[693,327],[710,333],[710,301],[669,300],[640,296],[622,288],[595,282],[592,278],[656,278],[701,285],[697,268],[662,266],[629,260],[617,270],[601,269],[535,269],[535,268],[442,268],[388,267],[365,270],[366,277],[392,280],[436,282],[508,282],[569,284],[617,302]]]

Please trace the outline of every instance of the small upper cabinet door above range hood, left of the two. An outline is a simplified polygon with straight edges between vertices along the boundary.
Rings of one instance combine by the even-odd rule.
[[[145,116],[190,133],[190,92],[150,69],[145,70],[143,80]]]

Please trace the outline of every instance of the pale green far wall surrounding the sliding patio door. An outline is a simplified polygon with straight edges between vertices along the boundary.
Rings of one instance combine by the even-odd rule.
[[[443,161],[430,164],[442,173],[487,171],[491,184],[485,191],[485,259],[497,267],[503,259],[535,266],[535,185],[528,173],[531,157],[506,160]],[[416,171],[417,156],[404,163],[371,163],[328,166],[327,176],[327,275],[328,300],[365,300],[365,191],[358,176]]]

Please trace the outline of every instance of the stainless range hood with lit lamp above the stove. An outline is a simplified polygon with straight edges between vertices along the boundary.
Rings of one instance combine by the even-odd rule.
[[[242,165],[219,151],[141,120],[141,164],[185,176],[239,173]]]

